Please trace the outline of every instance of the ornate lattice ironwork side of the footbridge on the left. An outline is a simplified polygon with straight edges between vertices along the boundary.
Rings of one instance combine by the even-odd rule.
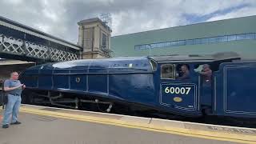
[[[72,51],[7,37],[3,34],[0,34],[0,53],[38,58],[52,62],[70,61],[79,58],[78,54]]]

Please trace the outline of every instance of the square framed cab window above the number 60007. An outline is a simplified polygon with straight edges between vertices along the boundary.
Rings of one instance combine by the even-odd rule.
[[[165,64],[161,66],[161,78],[162,79],[174,79],[175,78],[175,66],[172,64]]]

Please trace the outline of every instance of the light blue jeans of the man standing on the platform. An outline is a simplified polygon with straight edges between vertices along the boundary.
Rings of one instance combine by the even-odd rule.
[[[12,115],[11,122],[17,121],[18,110],[19,110],[19,107],[21,106],[21,102],[22,102],[21,96],[14,96],[14,95],[8,94],[8,102],[5,106],[2,125],[9,124],[11,115]]]

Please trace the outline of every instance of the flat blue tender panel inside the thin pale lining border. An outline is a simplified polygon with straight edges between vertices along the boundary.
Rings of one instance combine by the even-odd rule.
[[[256,65],[225,66],[224,110],[256,114]]]

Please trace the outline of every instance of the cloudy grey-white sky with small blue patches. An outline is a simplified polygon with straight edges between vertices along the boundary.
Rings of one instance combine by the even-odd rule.
[[[104,13],[116,36],[256,15],[256,0],[0,0],[0,16],[73,43],[77,22]]]

